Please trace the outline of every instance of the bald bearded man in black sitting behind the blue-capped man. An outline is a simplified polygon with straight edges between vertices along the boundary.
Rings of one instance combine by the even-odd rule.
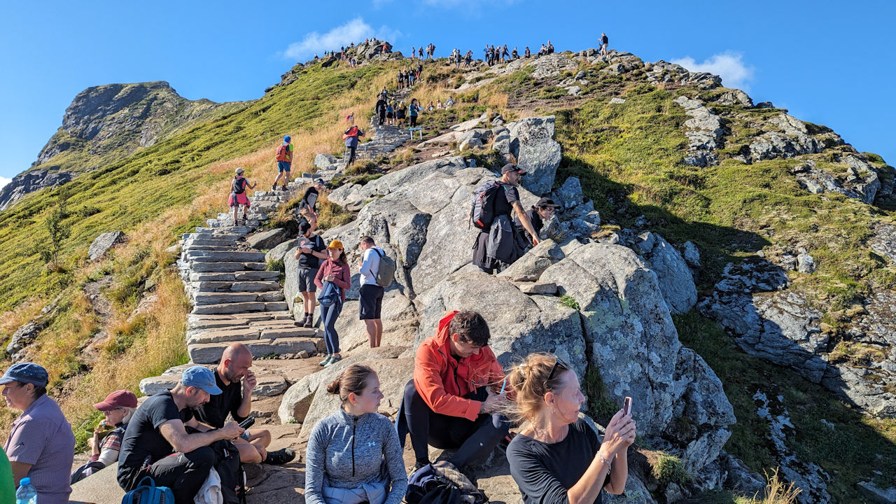
[[[218,367],[215,368],[215,382],[221,389],[219,395],[212,395],[208,403],[196,409],[196,417],[211,429],[220,429],[227,420],[228,413],[234,421],[244,421],[252,413],[252,391],[255,388],[255,374],[252,372],[252,352],[243,343],[233,343],[224,349]],[[242,383],[241,383],[242,381]],[[286,464],[296,456],[289,448],[268,452],[271,432],[268,430],[246,430],[234,445],[239,449],[239,460],[244,464]]]

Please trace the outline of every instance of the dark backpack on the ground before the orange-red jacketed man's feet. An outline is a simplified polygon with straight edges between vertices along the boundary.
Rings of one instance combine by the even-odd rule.
[[[408,504],[487,504],[478,490],[457,467],[440,460],[420,467],[408,478]]]

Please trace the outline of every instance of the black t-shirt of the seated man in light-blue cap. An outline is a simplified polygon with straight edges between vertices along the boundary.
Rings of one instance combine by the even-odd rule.
[[[154,464],[174,452],[168,439],[159,432],[159,426],[169,420],[193,420],[190,408],[177,410],[170,391],[151,396],[134,412],[134,417],[127,423],[118,454],[118,482],[122,487],[129,488],[137,483],[133,479],[147,457],[150,464]]]

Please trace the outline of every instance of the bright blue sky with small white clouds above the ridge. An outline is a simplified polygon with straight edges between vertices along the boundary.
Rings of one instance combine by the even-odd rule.
[[[27,169],[93,85],[163,80],[188,99],[251,100],[296,61],[371,35],[405,54],[433,42],[436,56],[480,56],[487,43],[592,48],[601,31],[611,48],[721,74],[896,164],[890,0],[45,1],[4,2],[0,13],[0,178]]]

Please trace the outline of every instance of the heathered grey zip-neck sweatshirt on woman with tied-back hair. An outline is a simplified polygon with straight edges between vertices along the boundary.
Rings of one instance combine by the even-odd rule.
[[[385,456],[392,490],[383,504],[400,504],[408,490],[401,444],[392,421],[379,413],[354,416],[340,410],[319,421],[308,439],[305,465],[306,504],[326,504],[323,479],[338,488],[378,482]]]

